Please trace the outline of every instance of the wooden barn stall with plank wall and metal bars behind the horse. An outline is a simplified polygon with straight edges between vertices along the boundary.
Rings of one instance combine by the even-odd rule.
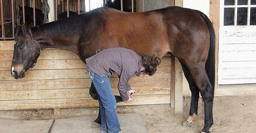
[[[145,5],[148,9],[150,8],[150,4],[144,2],[144,0],[104,0],[97,6],[92,5],[93,2],[91,1],[49,1],[50,9],[55,8],[50,10],[48,14],[49,22],[57,19],[56,13],[68,10],[80,14],[80,12],[90,11],[101,6],[109,6],[128,12],[144,11]],[[3,5],[3,2],[6,2],[6,0],[1,0],[1,5]],[[17,5],[30,5],[37,8],[43,4],[42,2],[40,0],[37,2],[36,0],[19,0],[19,2],[11,0],[8,6],[1,6],[1,18],[4,20],[8,16],[4,9],[11,8],[12,24],[15,21],[24,22],[24,20],[19,20],[19,13],[16,11]],[[174,2],[169,2],[169,4],[174,4]],[[67,15],[69,16],[69,14]],[[2,31],[4,29],[6,27],[2,27]],[[13,25],[12,29],[14,29]],[[14,44],[14,41],[12,41],[13,36],[7,38],[2,34],[0,39],[2,40],[0,41],[0,56],[2,57],[0,59],[2,64],[0,66],[0,110],[53,108],[54,115],[58,117],[60,108],[98,106],[98,101],[93,100],[89,95],[91,79],[86,74],[86,65],[76,54],[67,50],[45,49],[42,51],[41,56],[39,56],[36,66],[29,69],[24,78],[16,80],[10,74]],[[176,112],[182,111],[181,67],[177,63],[178,60],[170,55],[164,56],[161,58],[161,61],[155,75],[150,77],[148,75],[132,77],[130,79],[130,86],[134,90],[138,90],[138,93],[132,96],[136,102],[130,104],[120,102],[118,106],[171,104],[173,108],[175,104]],[[113,75],[110,80],[114,94],[119,95],[117,90],[117,74]],[[174,97],[176,98],[174,99]]]

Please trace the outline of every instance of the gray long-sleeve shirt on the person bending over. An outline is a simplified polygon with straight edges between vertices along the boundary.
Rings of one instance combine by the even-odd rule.
[[[142,65],[141,56],[133,50],[125,48],[111,48],[85,59],[87,67],[98,75],[113,75],[113,71],[119,75],[118,90],[122,101],[129,99],[127,91],[131,90],[129,79],[140,74]]]

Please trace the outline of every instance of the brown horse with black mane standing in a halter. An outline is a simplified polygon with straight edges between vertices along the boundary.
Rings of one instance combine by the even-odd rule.
[[[11,74],[25,76],[40,55],[40,49],[71,50],[83,62],[99,49],[124,47],[138,54],[179,59],[192,93],[188,119],[197,116],[199,92],[204,100],[204,128],[213,124],[215,34],[208,17],[200,11],[167,7],[142,13],[125,13],[102,7],[85,14],[27,29],[15,34]]]

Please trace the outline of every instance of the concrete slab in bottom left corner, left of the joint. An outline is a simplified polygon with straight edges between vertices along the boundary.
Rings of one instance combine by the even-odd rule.
[[[0,133],[48,133],[53,120],[0,119]]]

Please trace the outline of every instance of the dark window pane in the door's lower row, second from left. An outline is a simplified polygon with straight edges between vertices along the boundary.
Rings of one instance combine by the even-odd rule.
[[[247,25],[247,7],[237,8],[236,25]]]

